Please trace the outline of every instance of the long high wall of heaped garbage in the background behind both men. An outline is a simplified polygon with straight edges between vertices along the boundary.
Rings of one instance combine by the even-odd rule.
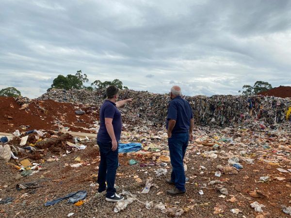
[[[122,112],[127,113],[129,122],[146,122],[148,125],[163,125],[167,113],[169,98],[166,94],[155,94],[122,90],[122,99],[133,98],[132,104],[126,105]],[[263,95],[204,95],[184,96],[194,111],[197,125],[249,125],[253,120],[265,125],[276,125],[291,119],[287,111],[291,107],[291,98],[279,98]],[[51,89],[38,100],[52,99],[58,102],[92,104],[99,107],[104,99],[104,91],[58,90]]]

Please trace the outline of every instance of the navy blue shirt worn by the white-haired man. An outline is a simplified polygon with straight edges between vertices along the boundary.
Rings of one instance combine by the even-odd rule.
[[[169,103],[166,128],[168,129],[169,120],[176,120],[172,134],[189,132],[192,118],[193,112],[189,102],[177,96]]]

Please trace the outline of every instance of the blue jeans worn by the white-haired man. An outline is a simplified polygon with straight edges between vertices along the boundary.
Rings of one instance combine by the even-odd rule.
[[[168,139],[171,164],[171,180],[180,191],[186,191],[183,159],[188,146],[189,133],[174,134]]]

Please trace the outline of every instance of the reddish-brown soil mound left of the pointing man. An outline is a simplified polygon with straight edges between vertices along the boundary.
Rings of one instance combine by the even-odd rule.
[[[75,114],[78,110],[76,106],[86,111],[86,114],[78,117]],[[28,109],[20,108],[14,98],[0,97],[0,132],[12,133],[16,129],[20,132],[32,129],[55,130],[59,127],[57,124],[67,126],[71,131],[91,132],[82,127],[91,128],[93,122],[99,120],[97,112],[94,112],[96,109],[52,100],[32,100]]]

